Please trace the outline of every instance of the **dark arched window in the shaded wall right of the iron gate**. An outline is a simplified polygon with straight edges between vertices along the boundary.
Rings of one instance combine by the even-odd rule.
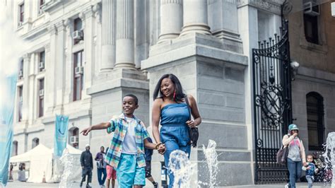
[[[324,143],[324,98],[316,92],[306,95],[307,131],[310,150],[322,150]]]

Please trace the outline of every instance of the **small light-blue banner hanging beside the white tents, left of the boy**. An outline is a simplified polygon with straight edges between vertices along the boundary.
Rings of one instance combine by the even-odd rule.
[[[56,115],[55,129],[54,129],[54,155],[61,156],[67,142],[67,127],[69,124],[69,117],[65,115]]]

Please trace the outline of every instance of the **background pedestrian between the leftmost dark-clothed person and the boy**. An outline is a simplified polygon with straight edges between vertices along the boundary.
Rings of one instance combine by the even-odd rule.
[[[105,180],[107,177],[105,158],[105,147],[101,146],[100,152],[95,155],[95,160],[97,161],[98,182],[100,187],[105,187]]]

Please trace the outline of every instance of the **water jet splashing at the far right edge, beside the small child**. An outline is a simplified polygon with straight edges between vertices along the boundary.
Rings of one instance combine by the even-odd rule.
[[[326,142],[326,151],[323,154],[324,162],[326,165],[326,170],[331,170],[332,175],[326,175],[327,177],[331,176],[331,188],[335,188],[335,132],[331,132],[328,134],[327,142]]]

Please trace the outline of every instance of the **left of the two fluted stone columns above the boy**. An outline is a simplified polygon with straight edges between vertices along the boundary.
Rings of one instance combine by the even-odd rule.
[[[110,71],[115,63],[115,2],[102,0],[102,47],[100,71]]]

